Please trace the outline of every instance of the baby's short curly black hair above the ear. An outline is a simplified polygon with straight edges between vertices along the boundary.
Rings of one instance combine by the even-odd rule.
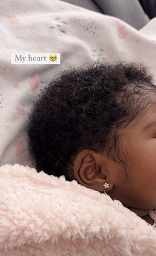
[[[68,165],[83,149],[122,162],[119,131],[154,104],[155,85],[134,63],[73,67],[44,87],[28,119],[28,152],[38,172],[74,180]],[[110,143],[112,141],[112,143]]]

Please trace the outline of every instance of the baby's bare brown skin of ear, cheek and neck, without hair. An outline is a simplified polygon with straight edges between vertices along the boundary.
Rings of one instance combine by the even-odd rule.
[[[156,209],[155,121],[156,107],[151,107],[139,125],[136,120],[122,130],[120,147],[124,150],[126,166],[110,160],[106,152],[89,149],[79,152],[73,160],[73,172],[79,184],[98,192],[105,190],[151,225],[154,221],[148,212]],[[104,189],[105,182],[109,188]]]

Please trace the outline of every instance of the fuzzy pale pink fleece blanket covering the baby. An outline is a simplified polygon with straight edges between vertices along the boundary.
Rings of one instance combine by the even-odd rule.
[[[34,168],[0,167],[1,256],[153,256],[156,229],[120,203]]]

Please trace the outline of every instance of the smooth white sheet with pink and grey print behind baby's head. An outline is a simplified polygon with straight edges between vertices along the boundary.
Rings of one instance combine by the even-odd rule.
[[[0,1],[0,166],[32,163],[24,123],[43,86],[74,64],[135,61],[156,81],[156,19],[141,31],[57,0]],[[61,64],[11,64],[11,53],[61,53]]]

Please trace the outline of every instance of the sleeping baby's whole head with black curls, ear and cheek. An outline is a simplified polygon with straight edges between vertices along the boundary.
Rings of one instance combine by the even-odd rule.
[[[156,208],[156,87],[145,68],[65,70],[38,97],[27,132],[38,172],[105,190],[128,207]]]

